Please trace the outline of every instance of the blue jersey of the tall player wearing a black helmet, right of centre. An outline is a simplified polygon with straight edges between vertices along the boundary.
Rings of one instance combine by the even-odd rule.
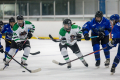
[[[104,32],[105,36],[107,36],[111,32],[111,25],[110,21],[105,17],[102,18],[101,22],[97,22],[95,18],[93,18],[93,20],[83,25],[82,30],[83,35],[92,30],[92,33],[95,35],[98,35],[99,32]]]

